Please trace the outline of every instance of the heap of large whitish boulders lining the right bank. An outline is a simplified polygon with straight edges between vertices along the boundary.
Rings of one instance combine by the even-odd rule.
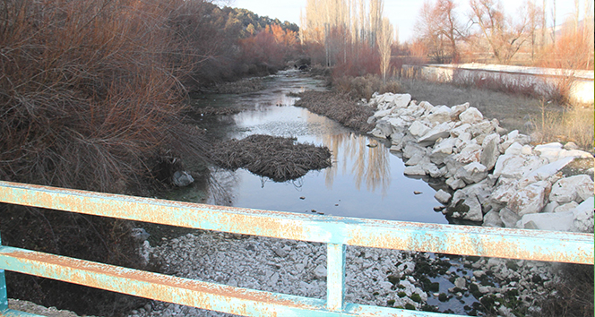
[[[446,179],[453,193],[441,190],[435,198],[450,217],[492,227],[593,232],[592,176],[559,173],[574,159],[592,162],[591,153],[572,142],[533,147],[529,135],[508,133],[469,103],[435,107],[386,93],[366,106],[376,109],[370,133],[402,152],[406,175]]]

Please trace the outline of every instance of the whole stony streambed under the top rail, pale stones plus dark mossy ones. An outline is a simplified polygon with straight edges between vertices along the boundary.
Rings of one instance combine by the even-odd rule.
[[[326,297],[325,244],[197,231],[163,238],[155,247],[145,242],[142,251],[167,274],[233,287]],[[468,313],[483,310],[504,316],[513,316],[507,307],[527,313],[536,300],[553,292],[556,281],[545,262],[351,246],[345,267],[345,299],[349,303],[432,310],[439,300],[452,300],[468,304]],[[434,304],[428,305],[432,301]],[[479,304],[484,302],[492,304]],[[228,315],[153,302],[130,317]]]

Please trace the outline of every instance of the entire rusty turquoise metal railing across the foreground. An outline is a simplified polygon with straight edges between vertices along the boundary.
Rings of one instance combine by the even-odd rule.
[[[229,287],[0,245],[0,316],[28,315],[8,309],[4,270],[246,316],[445,316],[345,303],[345,246],[593,264],[591,234],[249,210],[2,181],[0,202],[324,243],[328,270],[327,299],[323,300]]]

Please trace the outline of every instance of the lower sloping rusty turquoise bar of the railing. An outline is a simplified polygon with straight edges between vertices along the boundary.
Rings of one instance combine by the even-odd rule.
[[[453,316],[360,304],[348,304],[343,312],[330,312],[322,299],[230,287],[9,246],[0,246],[0,268],[244,316]]]

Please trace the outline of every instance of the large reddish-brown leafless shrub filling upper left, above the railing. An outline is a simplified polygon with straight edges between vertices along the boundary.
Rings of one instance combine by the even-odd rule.
[[[0,177],[110,192],[138,184],[183,129],[167,28],[177,0],[0,5]]]

